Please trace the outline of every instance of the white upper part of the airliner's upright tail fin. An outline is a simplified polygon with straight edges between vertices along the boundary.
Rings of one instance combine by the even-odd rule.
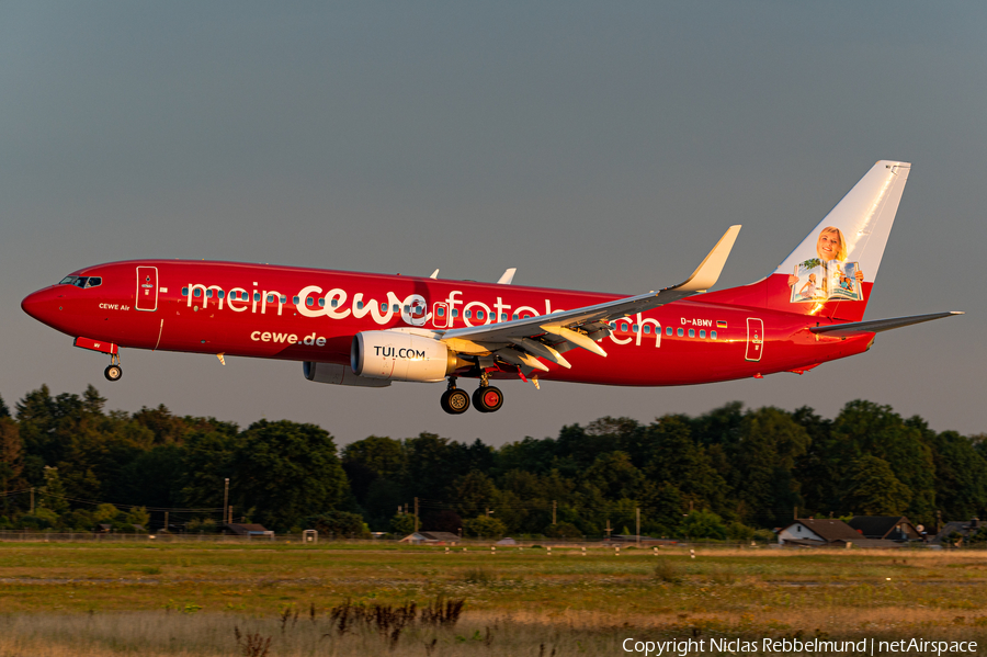
[[[877,275],[877,268],[881,267],[884,247],[895,223],[898,202],[901,200],[910,169],[909,162],[881,160],[874,165],[774,273],[792,274],[796,265],[813,258],[819,257],[824,260],[835,258],[859,263],[858,268],[863,272],[864,280],[873,282]],[[833,228],[837,230],[831,230]],[[829,252],[827,253],[829,257],[824,256],[820,249],[839,248],[839,245],[821,246],[824,233],[831,235],[839,233],[839,241],[842,242],[841,252]]]

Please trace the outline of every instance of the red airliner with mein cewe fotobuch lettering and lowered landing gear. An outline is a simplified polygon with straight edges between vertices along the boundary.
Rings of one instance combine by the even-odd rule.
[[[498,410],[492,380],[665,386],[802,374],[866,351],[875,333],[958,315],[863,321],[907,162],[880,161],[768,277],[706,292],[731,226],[693,274],[635,296],[188,260],[87,267],[27,296],[25,313],[76,347],[302,361],[318,383],[447,381],[442,408]]]

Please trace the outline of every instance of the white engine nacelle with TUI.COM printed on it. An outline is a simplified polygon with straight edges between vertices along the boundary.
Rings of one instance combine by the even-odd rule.
[[[366,378],[435,382],[460,363],[444,342],[404,331],[363,331],[350,347],[353,372]]]

